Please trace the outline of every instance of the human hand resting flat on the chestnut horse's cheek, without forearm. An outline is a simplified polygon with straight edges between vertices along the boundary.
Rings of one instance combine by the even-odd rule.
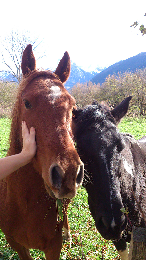
[[[22,137],[23,137],[23,149],[22,154],[28,162],[32,160],[37,151],[37,144],[35,141],[36,131],[33,127],[29,129],[25,121],[22,121]]]

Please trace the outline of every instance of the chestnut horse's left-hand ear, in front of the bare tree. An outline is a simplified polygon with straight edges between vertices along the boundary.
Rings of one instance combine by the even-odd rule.
[[[32,52],[32,45],[29,44],[23,51],[21,69],[23,75],[29,73],[31,70],[36,69],[36,59]]]

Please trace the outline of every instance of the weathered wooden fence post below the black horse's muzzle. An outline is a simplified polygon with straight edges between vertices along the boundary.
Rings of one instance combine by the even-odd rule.
[[[146,260],[146,228],[132,228],[128,260]]]

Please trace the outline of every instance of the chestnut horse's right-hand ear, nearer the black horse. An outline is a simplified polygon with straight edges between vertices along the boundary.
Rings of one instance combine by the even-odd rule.
[[[68,52],[66,51],[54,73],[59,77],[60,81],[64,83],[69,77],[70,70],[71,60]]]

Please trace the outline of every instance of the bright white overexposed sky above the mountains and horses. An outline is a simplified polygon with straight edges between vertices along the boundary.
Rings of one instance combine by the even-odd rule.
[[[38,68],[56,68],[68,51],[72,62],[92,71],[146,51],[146,35],[139,31],[141,24],[146,27],[145,12],[145,0],[8,0],[1,3],[0,37],[11,30],[39,35],[34,56],[46,51]],[[139,25],[130,27],[136,21]]]

